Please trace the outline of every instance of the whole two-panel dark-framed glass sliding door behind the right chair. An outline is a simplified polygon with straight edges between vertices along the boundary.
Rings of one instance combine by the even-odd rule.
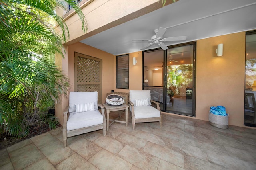
[[[195,46],[143,51],[143,90],[164,112],[195,116]]]

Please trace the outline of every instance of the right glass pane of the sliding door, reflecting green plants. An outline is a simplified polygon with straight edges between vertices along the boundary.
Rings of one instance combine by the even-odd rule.
[[[194,44],[167,50],[166,111],[194,116]]]

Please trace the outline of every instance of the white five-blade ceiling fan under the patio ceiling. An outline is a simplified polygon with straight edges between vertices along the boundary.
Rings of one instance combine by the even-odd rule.
[[[147,49],[151,45],[158,45],[163,50],[167,50],[168,47],[163,42],[166,42],[166,41],[182,41],[182,40],[186,40],[186,38],[187,38],[187,36],[163,38],[163,35],[166,32],[166,30],[167,30],[166,28],[160,27],[159,29],[154,30],[156,35],[153,35],[151,37],[151,39],[136,39],[134,41],[148,41],[148,42],[151,42],[140,50]]]

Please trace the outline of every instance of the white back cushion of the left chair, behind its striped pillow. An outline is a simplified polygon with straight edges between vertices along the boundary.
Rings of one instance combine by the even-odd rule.
[[[98,110],[98,92],[70,92],[69,112],[76,111],[76,104],[88,104],[94,102],[94,109]]]

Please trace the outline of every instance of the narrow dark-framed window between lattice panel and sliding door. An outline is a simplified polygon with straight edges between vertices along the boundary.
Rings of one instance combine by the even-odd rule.
[[[116,56],[116,88],[129,89],[129,55]]]

